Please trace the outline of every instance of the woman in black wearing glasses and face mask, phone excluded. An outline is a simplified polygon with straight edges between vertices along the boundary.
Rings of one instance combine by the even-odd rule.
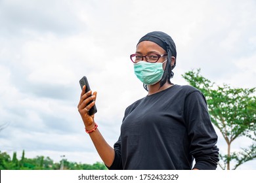
[[[154,31],[140,39],[131,60],[148,95],[126,108],[114,148],[88,114],[96,92],[83,87],[78,110],[108,169],[216,169],[219,148],[205,97],[192,86],[171,83],[176,58],[169,35]]]

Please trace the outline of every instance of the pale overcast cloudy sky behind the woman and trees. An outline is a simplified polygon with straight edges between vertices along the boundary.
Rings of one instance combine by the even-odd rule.
[[[200,68],[217,84],[255,87],[255,10],[255,0],[0,0],[1,152],[101,161],[77,111],[79,79],[98,92],[95,121],[113,145],[125,108],[147,94],[129,55],[150,31],[175,41],[173,83],[187,84],[181,75]]]

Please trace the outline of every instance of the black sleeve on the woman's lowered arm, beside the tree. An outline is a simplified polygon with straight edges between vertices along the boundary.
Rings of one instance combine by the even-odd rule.
[[[215,170],[219,161],[219,148],[216,146],[218,137],[211,123],[205,97],[200,91],[187,95],[184,115],[190,139],[190,154],[196,160],[194,168]]]

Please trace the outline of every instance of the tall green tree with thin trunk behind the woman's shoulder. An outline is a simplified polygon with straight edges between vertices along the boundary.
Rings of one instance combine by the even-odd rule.
[[[233,169],[256,158],[256,97],[255,88],[231,88],[227,84],[219,86],[200,75],[200,69],[182,75],[191,86],[198,88],[205,98],[213,124],[221,131],[228,146],[226,154],[220,154],[221,169]],[[231,144],[238,137],[247,137],[252,144],[232,152]]]

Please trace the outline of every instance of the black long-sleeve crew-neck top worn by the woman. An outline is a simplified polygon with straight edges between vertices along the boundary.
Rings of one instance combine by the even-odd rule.
[[[174,85],[127,107],[109,169],[216,169],[216,143],[203,94]]]

